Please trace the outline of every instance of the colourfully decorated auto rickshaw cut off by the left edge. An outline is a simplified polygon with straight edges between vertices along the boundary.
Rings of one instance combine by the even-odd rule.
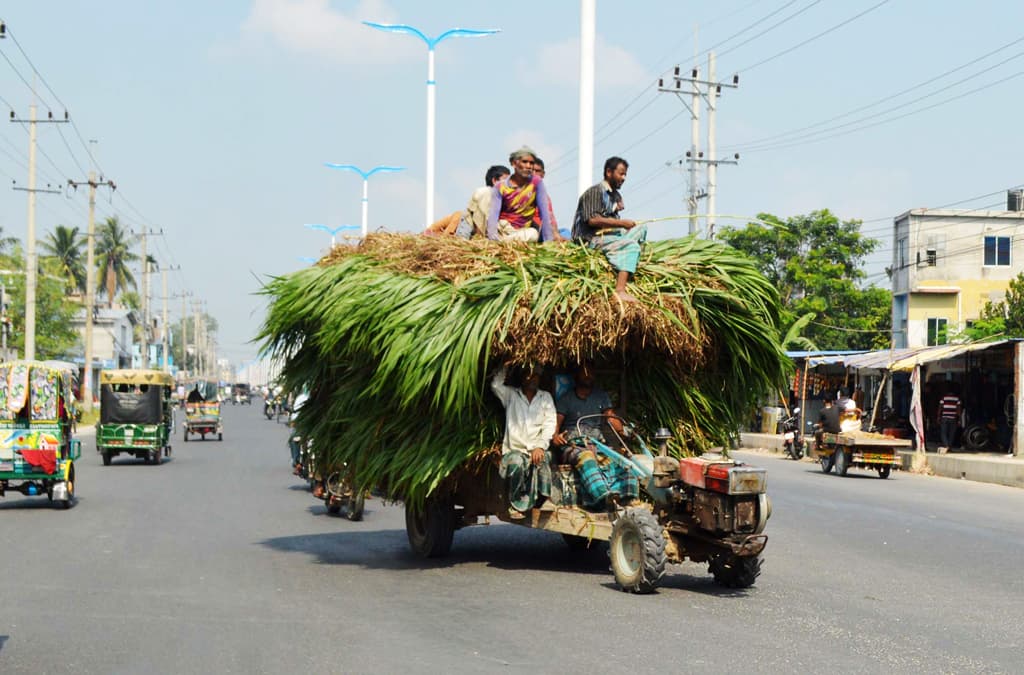
[[[8,490],[75,504],[74,373],[55,364],[0,364],[0,497]]]

